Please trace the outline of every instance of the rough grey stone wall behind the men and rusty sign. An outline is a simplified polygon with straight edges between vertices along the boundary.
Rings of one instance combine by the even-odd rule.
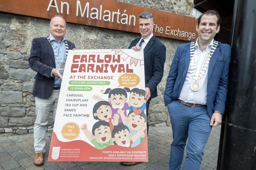
[[[120,0],[122,2],[191,15],[193,0]],[[31,95],[36,72],[29,68],[32,39],[49,35],[49,20],[0,13],[0,133],[33,132],[35,98]],[[66,39],[76,49],[127,48],[139,34],[67,24]],[[158,38],[166,46],[164,77],[158,85],[158,97],[151,101],[149,124],[167,124],[169,115],[163,102],[166,77],[177,45],[183,41]],[[53,116],[48,131],[53,129]]]

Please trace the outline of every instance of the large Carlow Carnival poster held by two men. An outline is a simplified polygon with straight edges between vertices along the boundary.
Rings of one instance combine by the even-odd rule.
[[[148,161],[143,50],[69,50],[49,161]]]

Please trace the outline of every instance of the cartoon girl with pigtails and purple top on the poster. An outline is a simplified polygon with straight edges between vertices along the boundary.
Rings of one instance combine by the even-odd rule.
[[[108,103],[110,104],[112,115],[111,118],[113,118],[115,113],[119,109],[122,109],[124,111],[124,115],[126,117],[127,113],[126,110],[129,107],[128,103],[126,102],[128,100],[127,98],[127,91],[130,91],[129,88],[115,88],[110,89],[107,88],[106,91],[103,94],[108,94]],[[104,99],[100,98],[98,95],[93,95],[93,99],[98,101],[105,101]],[[118,119],[118,123],[123,123],[121,117]]]

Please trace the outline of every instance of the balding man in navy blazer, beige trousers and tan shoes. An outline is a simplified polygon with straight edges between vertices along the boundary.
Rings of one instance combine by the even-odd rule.
[[[35,165],[44,163],[45,133],[51,108],[55,118],[60,92],[61,79],[68,49],[75,48],[74,43],[64,38],[66,22],[61,16],[50,21],[50,35],[32,40],[30,68],[37,72],[33,96],[36,104],[34,124]]]

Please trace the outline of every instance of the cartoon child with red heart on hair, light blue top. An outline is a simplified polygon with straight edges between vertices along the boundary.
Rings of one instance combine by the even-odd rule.
[[[118,110],[118,113],[120,114],[124,125],[129,128],[133,141],[131,147],[139,145],[141,143],[141,138],[145,136],[144,130],[147,128],[145,113],[141,109],[136,108],[129,112],[127,117],[125,117],[124,111],[121,109]]]

